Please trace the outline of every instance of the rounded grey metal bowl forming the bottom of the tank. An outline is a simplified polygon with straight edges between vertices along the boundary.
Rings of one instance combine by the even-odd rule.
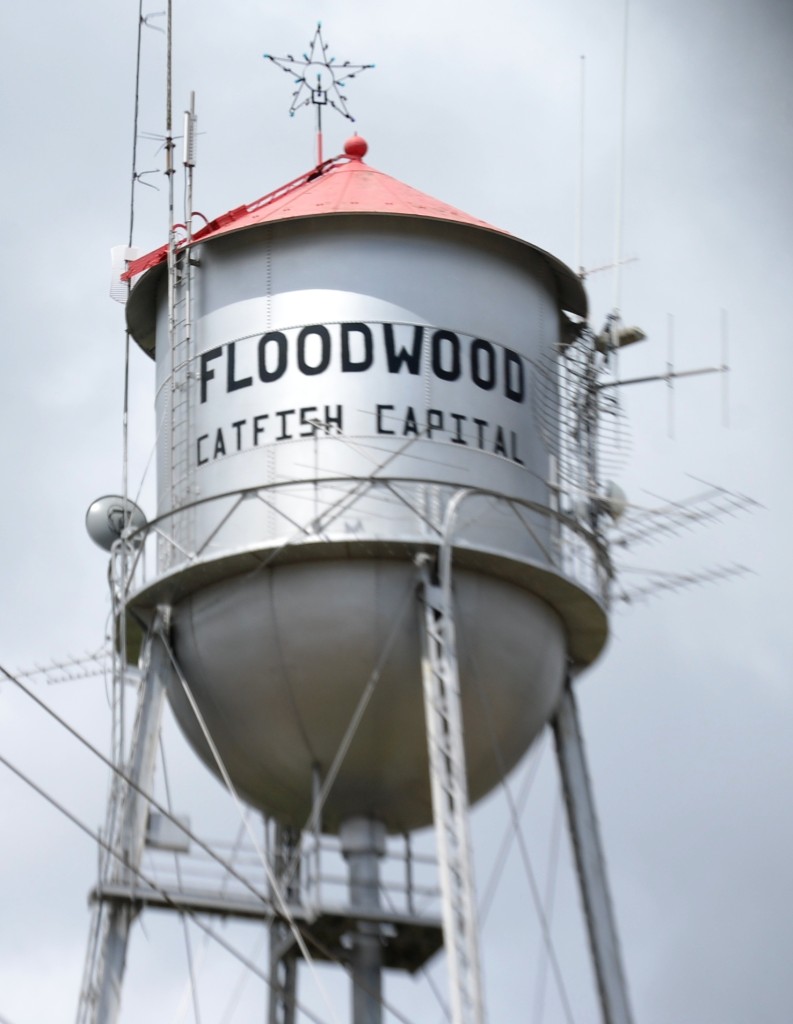
[[[362,697],[358,728],[323,810],[325,831],[366,815],[392,833],[432,821],[416,569],[339,560],[273,566],[196,591],[173,609],[184,678],[241,795],[303,827]],[[564,684],[561,621],[512,583],[456,569],[457,653],[471,801],[528,750]],[[373,684],[370,687],[370,684]],[[178,684],[176,719],[214,759]]]

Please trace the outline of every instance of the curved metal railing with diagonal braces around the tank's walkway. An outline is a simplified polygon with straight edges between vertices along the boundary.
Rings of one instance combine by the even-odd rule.
[[[176,578],[191,566],[244,551],[261,552],[263,567],[291,546],[308,543],[441,544],[446,509],[461,492],[478,504],[468,501],[465,514],[458,515],[451,538],[454,547],[490,551],[517,561],[534,560],[608,604],[613,577],[608,546],[580,518],[548,505],[485,488],[428,484],[426,480],[405,477],[290,480],[198,499],[129,532],[126,543],[131,553],[126,560],[124,590],[127,599],[134,601],[155,583]],[[288,499],[289,509],[284,499]],[[302,518],[293,514],[293,507],[301,502],[309,505]],[[233,532],[237,520],[250,518],[252,504],[276,523],[275,528],[260,539],[246,530],[245,544],[227,544],[224,531]],[[179,517],[210,509],[214,515],[201,517],[206,520],[203,534],[197,532],[193,547],[186,548],[175,528]],[[364,519],[354,519],[361,510],[365,510],[366,527]],[[396,528],[392,524],[394,510],[405,515]],[[406,521],[410,522],[409,528],[405,527]],[[500,543],[507,528],[512,537],[524,536],[517,549]]]

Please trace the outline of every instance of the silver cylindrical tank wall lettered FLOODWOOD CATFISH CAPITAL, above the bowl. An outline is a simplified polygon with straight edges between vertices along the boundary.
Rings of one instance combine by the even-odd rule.
[[[423,516],[437,519],[443,484],[547,505],[547,454],[529,401],[530,360],[558,337],[551,276],[539,260],[510,258],[506,239],[461,233],[334,216],[196,248],[196,496],[289,483],[272,507],[252,502],[222,525],[202,557],[291,541],[338,500],[331,483],[318,496],[323,478],[421,481],[410,494],[421,514],[399,501],[383,507],[377,492],[341,509],[326,540],[426,541]],[[166,317],[163,301],[158,338]],[[158,423],[168,422],[170,373],[166,352],[157,359]],[[158,454],[164,481],[171,452],[162,433]],[[167,486],[159,497],[162,515]],[[232,504],[199,509],[191,540],[200,543]],[[550,520],[537,540],[517,522],[494,532],[483,521],[478,531],[489,547],[541,561],[550,532]],[[167,546],[165,558],[185,561]]]

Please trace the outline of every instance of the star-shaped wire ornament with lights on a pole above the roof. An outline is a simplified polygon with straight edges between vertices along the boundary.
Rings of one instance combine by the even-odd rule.
[[[291,53],[285,57],[276,57],[272,53],[264,53],[263,56],[265,60],[269,60],[294,78],[297,88],[292,93],[290,117],[294,117],[295,112],[301,106],[311,104],[317,108],[318,163],[322,163],[323,106],[332,106],[348,121],[354,121],[347,110],[347,97],[341,91],[341,87],[362,71],[374,68],[374,65],[353,65],[349,60],[337,63],[335,57],[329,57],[328,44],[322,38],[321,22],[317,24],[307,53],[303,53],[300,57],[294,57]]]

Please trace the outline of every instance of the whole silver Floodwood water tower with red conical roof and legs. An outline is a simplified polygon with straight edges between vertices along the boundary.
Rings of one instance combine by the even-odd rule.
[[[345,941],[354,1024],[381,1020],[383,966],[437,945],[436,923],[378,899],[384,840],[434,823],[462,1024],[483,1020],[468,806],[553,721],[603,1012],[627,1022],[570,688],[606,641],[608,557],[560,507],[547,444],[547,367],[585,325],[585,293],[553,256],[366,156],[353,136],[209,222],[189,205],[128,266],[158,424],[157,515],[117,548],[148,674],[131,774],[145,791],[164,684],[199,756],[279,823],[268,913],[297,945],[273,957],[272,1024],[295,1019],[300,935],[322,921],[326,943]],[[564,530],[589,546],[586,580]],[[130,793],[132,867],[143,804]],[[288,912],[305,829],[340,838],[343,936]],[[131,892],[100,893],[93,1019],[118,1011]]]

